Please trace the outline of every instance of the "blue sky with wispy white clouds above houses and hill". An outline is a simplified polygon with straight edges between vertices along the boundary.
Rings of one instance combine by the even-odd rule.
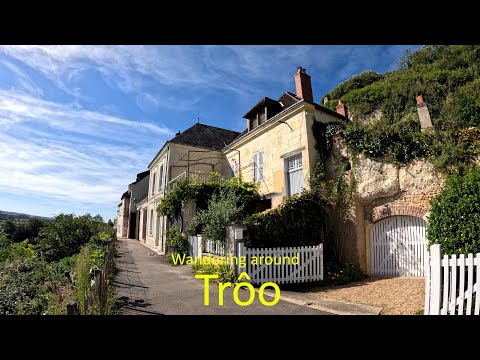
[[[322,95],[419,46],[0,46],[0,210],[116,215],[127,185],[177,131],[242,131],[262,97]]]

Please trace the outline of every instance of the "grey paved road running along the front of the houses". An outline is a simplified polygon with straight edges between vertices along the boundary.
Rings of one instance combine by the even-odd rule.
[[[275,306],[264,306],[255,294],[249,306],[239,306],[233,300],[233,289],[225,289],[224,306],[218,305],[218,286],[210,285],[210,305],[203,305],[204,286],[189,266],[173,266],[165,256],[139,244],[136,240],[118,240],[115,288],[122,304],[121,314],[311,314],[329,313],[280,300]],[[241,289],[239,298],[246,301],[249,291]],[[272,298],[265,297],[267,301]]]

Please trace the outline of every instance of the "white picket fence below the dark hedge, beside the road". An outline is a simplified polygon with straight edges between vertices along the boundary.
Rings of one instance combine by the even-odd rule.
[[[245,271],[251,278],[252,284],[263,284],[274,282],[276,284],[289,284],[323,280],[323,245],[300,246],[300,247],[279,247],[279,248],[247,248],[243,243],[237,243],[238,256],[246,256],[246,268],[237,268],[237,273]],[[290,259],[299,254],[298,265],[291,262],[283,264],[252,265],[252,257],[259,259],[263,256],[283,257]],[[278,261],[277,261],[278,262]]]

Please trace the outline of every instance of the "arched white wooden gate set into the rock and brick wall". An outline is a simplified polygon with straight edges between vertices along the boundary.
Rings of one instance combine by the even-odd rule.
[[[427,253],[425,220],[391,216],[372,228],[372,273],[386,276],[423,276]]]

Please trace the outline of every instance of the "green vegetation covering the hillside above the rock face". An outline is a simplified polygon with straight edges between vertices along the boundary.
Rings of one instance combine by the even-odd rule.
[[[416,97],[428,104],[434,131],[420,132]],[[406,53],[397,69],[367,71],[324,95],[338,99],[354,121],[345,129],[351,150],[393,163],[425,157],[452,172],[471,164],[480,152],[480,46],[424,46]],[[380,119],[362,119],[380,112]]]

